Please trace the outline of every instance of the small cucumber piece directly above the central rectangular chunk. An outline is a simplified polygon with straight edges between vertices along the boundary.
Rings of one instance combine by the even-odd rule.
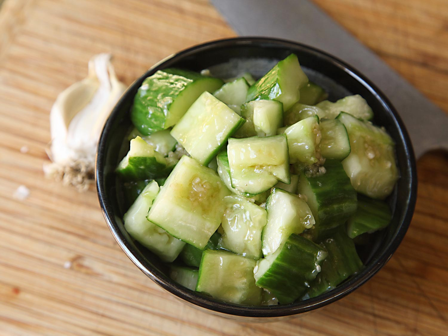
[[[252,100],[241,106],[241,116],[246,122],[235,134],[236,138],[276,135],[283,125],[283,104],[276,100]]]

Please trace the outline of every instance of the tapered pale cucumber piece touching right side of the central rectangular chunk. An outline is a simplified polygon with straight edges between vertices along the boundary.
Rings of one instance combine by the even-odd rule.
[[[289,162],[299,166],[322,164],[319,143],[319,117],[310,116],[285,129],[288,139]]]

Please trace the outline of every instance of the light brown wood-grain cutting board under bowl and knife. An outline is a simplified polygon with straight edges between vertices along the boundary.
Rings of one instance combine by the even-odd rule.
[[[316,3],[448,112],[446,0]],[[86,75],[92,55],[112,52],[130,84],[173,52],[235,33],[206,0],[6,0],[0,32],[0,335],[448,333],[446,153],[419,160],[409,232],[355,293],[287,321],[215,317],[134,266],[110,234],[94,188],[79,194],[45,180],[42,165],[52,103]],[[19,185],[30,189],[23,201],[12,197]]]

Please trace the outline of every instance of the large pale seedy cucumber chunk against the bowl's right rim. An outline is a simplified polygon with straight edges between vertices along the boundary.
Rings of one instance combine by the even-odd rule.
[[[337,119],[349,134],[351,152],[342,164],[353,188],[370,198],[386,198],[399,178],[394,141],[385,130],[348,113]]]

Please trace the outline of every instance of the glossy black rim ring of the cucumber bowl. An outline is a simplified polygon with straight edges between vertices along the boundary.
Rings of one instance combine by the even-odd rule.
[[[170,280],[167,276],[165,276],[158,269],[148,267],[145,265],[145,260],[138,254],[134,254],[134,247],[126,241],[125,237],[121,233],[118,224],[114,220],[114,213],[112,209],[111,203],[108,201],[107,193],[104,188],[104,173],[103,168],[105,164],[105,155],[104,151],[106,149],[106,140],[108,132],[116,120],[118,111],[120,110],[119,106],[128,98],[129,92],[136,90],[137,86],[139,86],[139,82],[142,79],[148,77],[155,71],[159,69],[166,68],[164,66],[166,63],[170,61],[178,60],[179,58],[192,55],[198,51],[203,51],[207,49],[214,49],[216,47],[226,47],[226,46],[235,46],[235,45],[261,45],[263,43],[267,43],[270,45],[277,45],[278,47],[293,47],[302,49],[307,53],[314,54],[315,56],[319,56],[320,58],[324,58],[327,61],[331,62],[332,65],[335,65],[342,69],[343,71],[349,73],[350,76],[355,78],[358,82],[360,82],[363,86],[366,87],[370,93],[375,96],[376,99],[383,105],[383,107],[388,110],[395,120],[395,124],[398,125],[398,133],[403,139],[403,146],[405,150],[405,154],[407,157],[407,168],[409,170],[409,180],[410,180],[410,192],[407,198],[408,207],[405,210],[405,216],[399,224],[399,227],[395,233],[395,236],[392,238],[391,242],[388,244],[386,249],[375,259],[370,262],[368,267],[365,267],[358,275],[353,278],[345,281],[343,284],[336,287],[330,292],[319,295],[318,297],[314,297],[305,301],[300,301],[296,303],[291,303],[287,305],[277,305],[277,306],[245,306],[238,305],[229,302],[223,302],[219,300],[215,300],[211,297],[202,296],[200,293],[191,291],[186,289],[185,287],[177,284],[176,282]],[[394,126],[395,127],[395,126]],[[406,165],[405,165],[406,166]],[[150,69],[148,69],[145,73],[143,73],[139,78],[137,78],[125,91],[125,93],[121,96],[119,101],[116,103],[113,108],[108,120],[106,121],[103,130],[101,132],[101,136],[99,138],[97,156],[95,160],[95,184],[97,188],[97,194],[99,198],[99,204],[101,210],[103,212],[104,219],[106,220],[109,229],[112,232],[113,237],[117,241],[118,245],[121,249],[126,253],[126,255],[132,260],[132,262],[143,272],[151,278],[155,283],[159,284],[162,288],[166,289],[168,292],[174,294],[175,296],[190,302],[195,306],[199,306],[205,308],[207,310],[212,310],[215,312],[236,315],[236,316],[245,316],[245,317],[279,317],[279,316],[288,316],[293,314],[305,313],[310,310],[315,310],[326,306],[329,303],[335,302],[342,297],[345,297],[349,293],[353,292],[355,289],[359,288],[362,284],[364,284],[367,280],[375,275],[392,257],[392,254],[396,251],[398,246],[400,245],[405,233],[409,228],[410,221],[412,219],[415,202],[417,198],[417,172],[416,172],[416,162],[414,151],[411,145],[411,141],[405,125],[401,120],[400,116],[396,112],[396,109],[393,107],[392,103],[390,103],[389,99],[383,94],[381,90],[375,84],[370,82],[369,79],[364,77],[362,73],[358,72],[358,70],[354,69],[352,66],[348,65],[344,61],[336,58],[328,54],[327,52],[323,52],[314,47],[307,46],[302,43],[297,43],[294,41],[289,41],[285,39],[277,39],[277,38],[269,38],[269,37],[236,37],[230,39],[217,39],[207,43],[201,43],[195,45],[193,47],[184,49],[180,52],[172,54],[163,60],[160,60],[158,63],[153,65]]]

